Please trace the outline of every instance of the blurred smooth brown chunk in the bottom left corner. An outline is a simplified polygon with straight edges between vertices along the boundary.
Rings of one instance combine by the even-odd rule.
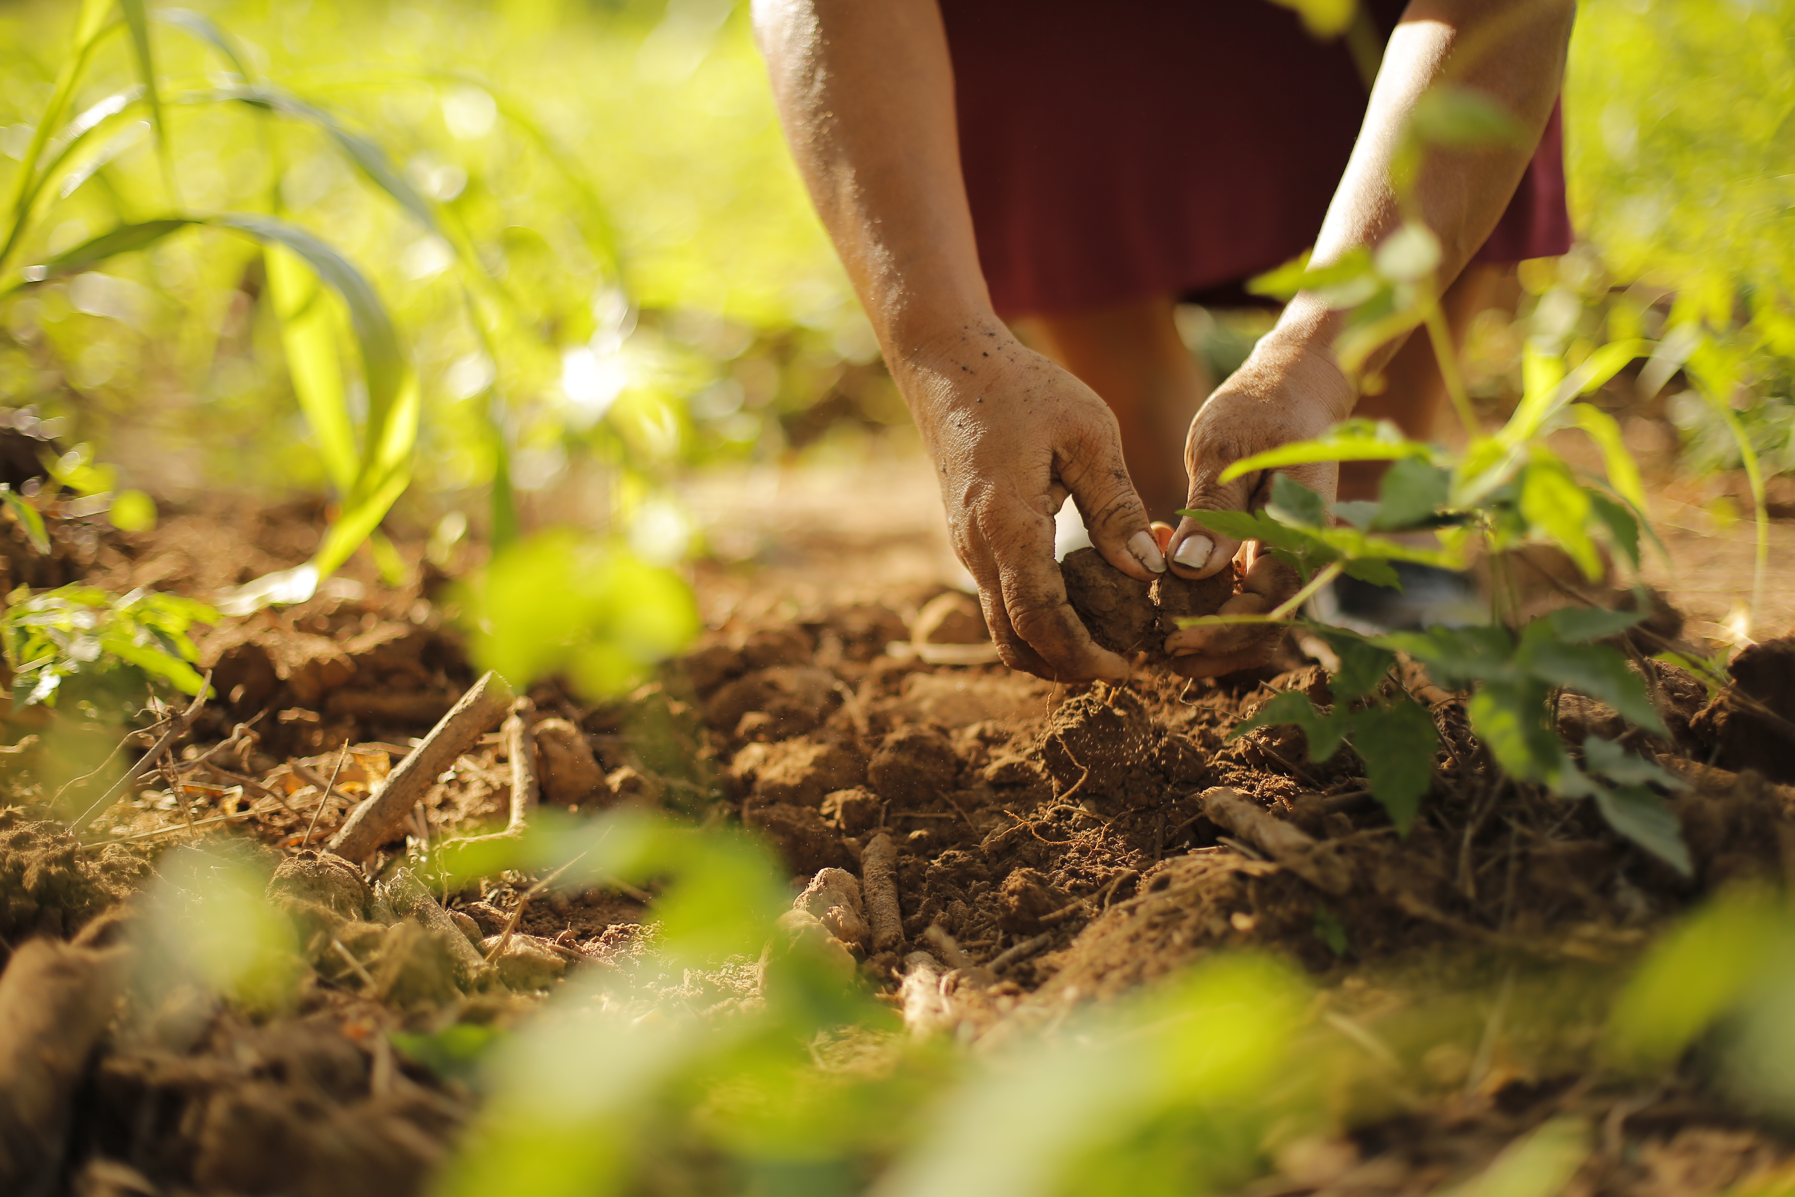
[[[111,1021],[127,957],[34,939],[0,974],[0,1192],[52,1192],[68,1105]]]

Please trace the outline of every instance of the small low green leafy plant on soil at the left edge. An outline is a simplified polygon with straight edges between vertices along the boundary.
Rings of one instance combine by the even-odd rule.
[[[217,612],[178,594],[70,585],[32,594],[20,587],[0,612],[0,648],[13,675],[13,703],[56,705],[68,678],[126,671],[151,686],[197,695],[205,680],[188,632]]]

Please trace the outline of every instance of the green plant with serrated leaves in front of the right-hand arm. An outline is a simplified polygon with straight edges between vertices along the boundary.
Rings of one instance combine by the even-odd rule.
[[[1443,90],[1423,99],[1393,169],[1398,196],[1411,210],[1409,221],[1375,251],[1359,251],[1321,269],[1309,269],[1300,260],[1255,280],[1265,294],[1291,298],[1309,291],[1346,310],[1335,355],[1348,373],[1359,373],[1379,345],[1423,328],[1465,425],[1465,450],[1447,452],[1405,440],[1388,424],[1348,420],[1318,440],[1233,463],[1221,481],[1319,461],[1391,465],[1375,502],[1339,502],[1328,510],[1321,495],[1280,474],[1264,510],[1186,511],[1213,531],[1256,540],[1291,565],[1303,585],[1267,616],[1210,616],[1185,623],[1289,623],[1327,642],[1339,659],[1330,684],[1332,705],[1323,709],[1303,695],[1283,693],[1237,734],[1294,723],[1305,730],[1312,761],[1330,759],[1343,743],[1352,743],[1364,761],[1371,793],[1398,829],[1405,831],[1414,820],[1441,747],[1427,709],[1391,677],[1400,653],[1422,664],[1436,682],[1470,691],[1470,729],[1510,777],[1542,784],[1563,799],[1592,799],[1616,831],[1689,872],[1677,820],[1653,790],[1677,782],[1646,757],[1596,736],[1585,741],[1578,759],[1558,738],[1551,716],[1553,695],[1569,689],[1608,703],[1648,732],[1666,734],[1626,657],[1601,642],[1644,617],[1644,596],[1635,594],[1637,610],[1571,607],[1522,621],[1511,564],[1513,549],[1545,542],[1560,547],[1590,581],[1607,571],[1601,546],[1637,571],[1644,528],[1639,470],[1616,420],[1576,400],[1641,357],[1653,359],[1648,370],[1662,370],[1666,363],[1675,370],[1687,357],[1687,346],[1628,339],[1596,348],[1574,368],[1529,346],[1520,406],[1499,431],[1483,431],[1440,309],[1438,240],[1413,215],[1407,185],[1431,145],[1502,140],[1513,135],[1511,124],[1506,113],[1468,92]],[[1668,377],[1668,370],[1662,371]],[[1553,452],[1545,438],[1560,429],[1581,429],[1594,441],[1605,477],[1587,477]],[[1438,547],[1413,544],[1418,531],[1432,531]],[[1391,538],[1398,533],[1409,535]],[[1465,551],[1474,542],[1481,542],[1490,564],[1488,625],[1364,635],[1296,617],[1310,596],[1343,574],[1400,589],[1395,562],[1463,569]]]

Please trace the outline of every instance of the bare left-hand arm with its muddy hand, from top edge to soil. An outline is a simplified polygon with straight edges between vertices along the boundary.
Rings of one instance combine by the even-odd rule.
[[[991,309],[960,176],[953,65],[935,0],[756,0],[786,138],[937,467],[955,551],[1011,666],[1122,677],[1066,605],[1054,511],[1097,549],[1165,569],[1115,416]]]

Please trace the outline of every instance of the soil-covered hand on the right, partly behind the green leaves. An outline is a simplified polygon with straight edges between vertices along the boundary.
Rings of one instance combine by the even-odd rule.
[[[1352,413],[1353,388],[1316,337],[1273,332],[1240,370],[1210,395],[1190,422],[1185,468],[1190,472],[1192,511],[1255,511],[1271,501],[1273,470],[1253,470],[1231,483],[1221,474],[1253,454],[1310,440]],[[1318,492],[1328,504],[1339,477],[1335,463],[1282,470]],[[1228,569],[1240,576],[1240,592],[1222,603],[1222,616],[1264,616],[1298,590],[1296,571],[1260,549],[1212,531],[1190,515],[1179,520],[1167,549],[1172,572],[1208,578]],[[1183,628],[1165,641],[1172,669],[1185,677],[1219,677],[1262,666],[1278,646],[1274,625],[1212,625]]]

